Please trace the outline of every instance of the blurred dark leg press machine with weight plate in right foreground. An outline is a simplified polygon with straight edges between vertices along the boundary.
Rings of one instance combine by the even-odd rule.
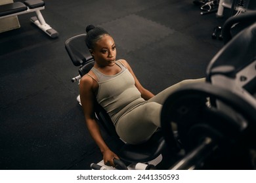
[[[255,169],[256,24],[233,37],[211,60],[207,82],[187,85],[163,104],[165,141],[175,122],[186,155],[170,169]]]

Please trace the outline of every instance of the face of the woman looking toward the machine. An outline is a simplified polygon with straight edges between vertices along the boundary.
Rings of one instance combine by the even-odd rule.
[[[110,35],[103,35],[100,40],[96,41],[91,54],[101,67],[115,65],[116,44],[114,39]]]

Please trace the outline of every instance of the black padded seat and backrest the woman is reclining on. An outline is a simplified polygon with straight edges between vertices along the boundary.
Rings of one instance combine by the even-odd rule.
[[[79,76],[72,78],[72,82],[79,82],[81,76],[88,73],[94,65],[94,60],[85,44],[85,37],[86,34],[76,35],[65,42],[65,48],[70,59],[75,66],[79,67]],[[80,103],[79,95],[77,96],[77,101]],[[121,161],[125,162],[128,169],[141,169],[141,167],[146,169],[150,164],[152,164],[150,165],[150,167],[152,167],[160,163],[162,159],[161,152],[165,150],[165,140],[163,139],[161,131],[157,131],[148,141],[142,144],[127,144],[119,139],[110,117],[98,103],[96,103],[95,115],[99,124],[104,127],[106,132],[112,136],[115,141],[121,144],[119,150],[115,153],[119,156]],[[142,164],[146,166],[141,166]],[[92,168],[112,169],[113,167],[108,167],[101,161],[97,164],[93,163]]]

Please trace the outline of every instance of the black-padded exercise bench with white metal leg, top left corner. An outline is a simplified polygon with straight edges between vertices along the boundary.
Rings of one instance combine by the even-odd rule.
[[[37,25],[39,29],[43,30],[50,37],[58,37],[58,32],[45,22],[45,19],[40,12],[40,10],[43,9],[45,9],[45,2],[41,0],[26,0],[24,3],[14,2],[0,5],[0,19],[35,12],[37,16],[30,18],[31,22]]]

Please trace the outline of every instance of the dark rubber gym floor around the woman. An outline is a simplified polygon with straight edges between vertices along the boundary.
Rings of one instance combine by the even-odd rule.
[[[0,169],[90,169],[102,159],[71,82],[78,67],[64,48],[86,25],[110,32],[117,58],[153,93],[204,77],[223,46],[211,34],[225,17],[202,16],[192,0],[45,0],[41,12],[58,38],[35,27],[33,13],[18,16],[19,29],[0,33]]]

